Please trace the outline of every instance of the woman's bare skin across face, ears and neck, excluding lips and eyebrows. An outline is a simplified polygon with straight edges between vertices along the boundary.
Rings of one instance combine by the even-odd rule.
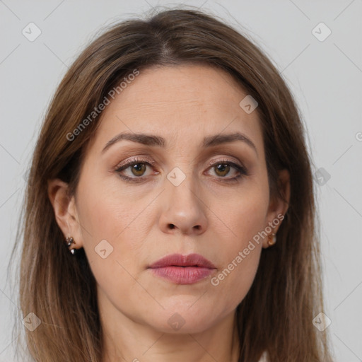
[[[255,279],[267,238],[218,286],[211,277],[288,208],[269,197],[262,129],[257,110],[247,114],[239,106],[245,95],[231,76],[209,66],[142,71],[103,111],[76,195],[68,197],[61,180],[49,181],[59,227],[74,247],[84,247],[97,281],[103,361],[238,360],[235,309]],[[121,132],[156,134],[165,146],[123,140],[102,153]],[[245,134],[257,151],[243,141],[202,146],[205,136],[233,132]],[[144,173],[122,171],[141,182],[122,180],[117,165],[135,156],[153,165]],[[239,172],[233,165],[219,170],[225,161],[243,165],[247,175],[230,181]],[[175,167],[186,177],[178,186],[167,178]],[[279,177],[288,200],[288,173]],[[95,252],[100,240],[113,247],[105,259]],[[214,263],[211,277],[180,285],[148,269],[165,255],[193,252]],[[178,330],[168,323],[174,313],[185,321]]]

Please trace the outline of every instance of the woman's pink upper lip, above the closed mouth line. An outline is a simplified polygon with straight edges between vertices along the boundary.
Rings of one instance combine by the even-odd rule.
[[[163,267],[202,267],[209,269],[216,268],[214,264],[210,262],[210,260],[199,254],[170,254],[150,265],[150,268],[152,269]]]

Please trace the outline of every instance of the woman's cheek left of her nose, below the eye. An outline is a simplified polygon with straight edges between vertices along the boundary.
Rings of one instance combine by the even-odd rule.
[[[144,215],[151,220],[144,210],[149,202],[135,202],[134,195],[120,191],[117,183],[102,184],[96,175],[88,177],[92,182],[83,180],[78,187],[83,247],[98,284],[119,289],[128,283],[127,271],[136,273],[134,260],[148,230]]]

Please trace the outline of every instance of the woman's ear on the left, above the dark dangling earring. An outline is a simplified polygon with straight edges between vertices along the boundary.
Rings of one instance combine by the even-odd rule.
[[[76,202],[74,196],[69,196],[68,184],[58,178],[49,180],[47,191],[57,224],[64,234],[64,240],[66,237],[71,236],[75,241],[75,245],[72,245],[71,249],[83,247]]]

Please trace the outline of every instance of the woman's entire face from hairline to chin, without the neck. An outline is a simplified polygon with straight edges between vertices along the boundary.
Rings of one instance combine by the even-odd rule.
[[[260,233],[279,224],[282,208],[269,200],[262,128],[246,96],[223,71],[160,67],[141,71],[103,111],[71,235],[104,318],[202,332],[249,291],[267,247]],[[210,264],[155,265],[175,254]]]

